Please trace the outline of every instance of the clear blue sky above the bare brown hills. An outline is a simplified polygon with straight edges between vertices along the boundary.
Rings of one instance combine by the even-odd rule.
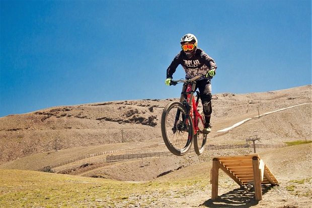
[[[311,84],[311,1],[0,1],[0,117],[179,97],[166,70],[187,33],[212,93]],[[183,78],[181,66],[174,79]]]

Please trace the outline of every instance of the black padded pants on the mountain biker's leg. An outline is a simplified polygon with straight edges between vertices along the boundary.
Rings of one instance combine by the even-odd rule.
[[[195,91],[198,88],[200,93],[201,103],[203,105],[203,112],[205,115],[205,123],[210,125],[210,118],[212,113],[211,106],[211,83],[209,79],[202,79],[196,82]]]

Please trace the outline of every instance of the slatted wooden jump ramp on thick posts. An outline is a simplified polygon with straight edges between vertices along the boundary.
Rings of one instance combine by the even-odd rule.
[[[262,200],[261,184],[279,184],[258,154],[215,157],[210,174],[211,199],[218,198],[219,168],[240,186],[253,184],[256,200]]]

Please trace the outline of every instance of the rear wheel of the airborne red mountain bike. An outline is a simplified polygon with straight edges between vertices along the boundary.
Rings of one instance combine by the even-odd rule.
[[[207,134],[204,134],[202,131],[204,129],[204,123],[205,123],[205,115],[203,112],[201,112],[201,117],[203,119],[203,123],[201,122],[200,118],[197,117],[197,124],[199,130],[194,135],[193,141],[194,141],[194,150],[197,155],[201,155],[205,151],[205,146],[207,142]]]

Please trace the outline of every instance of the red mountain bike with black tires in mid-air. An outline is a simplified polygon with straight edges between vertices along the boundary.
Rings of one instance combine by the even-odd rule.
[[[162,114],[162,135],[167,148],[175,155],[185,155],[192,146],[197,155],[205,150],[207,134],[203,133],[205,117],[197,111],[199,92],[194,90],[196,81],[203,75],[192,79],[171,80],[170,85],[183,82],[180,101],[169,103]]]

